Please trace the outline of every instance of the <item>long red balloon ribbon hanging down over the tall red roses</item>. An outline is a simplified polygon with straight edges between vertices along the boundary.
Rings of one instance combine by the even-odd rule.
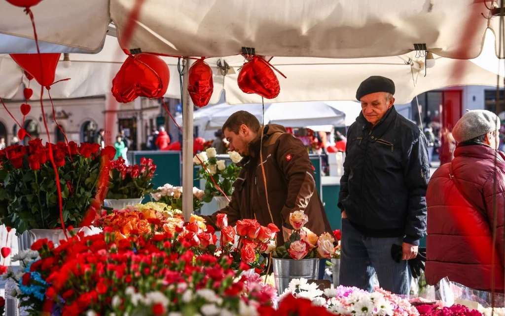
[[[35,19],[33,18],[33,13],[30,10],[30,8],[26,8],[25,12],[30,16],[30,20],[32,23],[33,37],[35,38],[35,46],[37,47],[37,55],[38,55],[38,60],[39,60],[39,65],[40,65],[40,81],[44,82],[44,69],[42,68],[42,55],[40,54],[40,48],[38,46],[38,36],[37,36],[37,30],[35,28]],[[51,144],[51,135],[49,134],[49,129],[47,128],[47,122],[45,120],[44,105],[42,102],[43,94],[44,94],[44,86],[41,84],[40,85],[40,110],[42,111],[42,119],[44,121],[45,132],[47,133],[47,142],[49,144],[49,160],[51,161],[51,164],[53,165],[53,169],[55,171],[56,188],[58,190],[58,202],[59,202],[59,206],[60,206],[60,221],[62,224],[63,234],[65,235],[65,238],[68,240],[67,230],[65,229],[65,221],[63,219],[63,198],[62,198],[62,188],[60,186],[60,175],[58,174],[58,168],[56,167],[56,163],[55,163],[55,157],[53,154],[53,145]]]

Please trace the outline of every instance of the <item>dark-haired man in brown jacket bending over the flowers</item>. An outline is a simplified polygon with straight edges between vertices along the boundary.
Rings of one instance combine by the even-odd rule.
[[[292,230],[289,213],[301,210],[309,216],[306,227],[312,232],[318,235],[331,232],[316,191],[309,154],[300,140],[287,133],[283,126],[268,124],[263,128],[262,142],[260,122],[246,111],[232,114],[222,130],[230,150],[244,158],[239,163],[242,170],[233,184],[235,191],[230,204],[210,216],[203,216],[208,223],[216,227],[217,214],[226,213],[230,225],[239,219],[253,218],[264,226],[273,222],[288,233]],[[260,163],[262,143],[265,173]],[[280,243],[283,243],[281,234],[277,239],[277,244]]]

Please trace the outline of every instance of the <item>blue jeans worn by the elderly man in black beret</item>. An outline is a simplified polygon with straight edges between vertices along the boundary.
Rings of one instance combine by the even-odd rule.
[[[376,273],[381,288],[394,294],[410,294],[409,265],[405,260],[397,263],[391,256],[391,246],[401,245],[402,237],[365,237],[347,218],[342,219],[341,232],[340,285],[373,292]]]

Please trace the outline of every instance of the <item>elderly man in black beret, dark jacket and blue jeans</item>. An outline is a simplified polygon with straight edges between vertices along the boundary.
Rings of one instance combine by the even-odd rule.
[[[423,132],[394,109],[394,89],[391,79],[372,76],[356,93],[362,112],[347,132],[338,202],[340,284],[373,291],[376,273],[382,288],[409,294],[407,260],[426,230],[428,152]],[[393,245],[401,245],[400,262]]]

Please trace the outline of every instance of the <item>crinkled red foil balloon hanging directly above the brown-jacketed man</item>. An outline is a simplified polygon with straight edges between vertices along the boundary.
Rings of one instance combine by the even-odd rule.
[[[237,81],[238,87],[244,93],[255,93],[266,99],[277,97],[281,91],[279,79],[274,71],[257,55],[242,66]]]

